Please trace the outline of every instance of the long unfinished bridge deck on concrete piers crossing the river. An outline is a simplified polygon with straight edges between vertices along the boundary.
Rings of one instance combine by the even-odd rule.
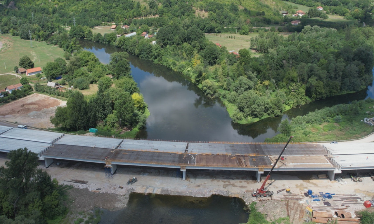
[[[255,171],[257,181],[269,171],[285,143],[234,143],[134,140],[62,134],[0,126],[0,151],[28,148],[49,167],[53,159],[101,163],[111,174],[117,165],[180,169]],[[274,171],[326,172],[373,169],[374,143],[290,142]]]

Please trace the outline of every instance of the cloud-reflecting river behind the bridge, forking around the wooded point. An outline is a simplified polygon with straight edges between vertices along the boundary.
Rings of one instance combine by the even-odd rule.
[[[109,63],[110,54],[122,50],[84,40],[80,44],[85,50],[95,53],[102,63]],[[141,139],[263,142],[279,134],[278,126],[283,119],[374,96],[371,85],[368,90],[315,101],[288,110],[283,116],[242,125],[232,122],[220,99],[205,97],[182,74],[136,56],[129,56],[129,61],[131,75],[151,113],[145,128],[138,133],[137,138]]]

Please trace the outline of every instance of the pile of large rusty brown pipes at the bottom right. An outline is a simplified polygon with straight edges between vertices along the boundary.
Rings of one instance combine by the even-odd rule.
[[[359,218],[351,218],[350,212],[339,210],[334,212],[337,218],[333,218],[332,212],[313,211],[312,221],[315,223],[336,223],[336,224],[360,224]]]

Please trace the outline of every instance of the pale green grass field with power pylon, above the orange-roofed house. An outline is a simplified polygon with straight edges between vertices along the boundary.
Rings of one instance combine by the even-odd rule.
[[[4,34],[0,35],[0,41],[3,43],[0,51],[0,74],[12,72],[14,66],[18,66],[19,58],[24,55],[33,60],[35,67],[42,68],[47,62],[64,56],[61,48],[48,45],[46,42],[32,41],[31,47],[28,40]]]

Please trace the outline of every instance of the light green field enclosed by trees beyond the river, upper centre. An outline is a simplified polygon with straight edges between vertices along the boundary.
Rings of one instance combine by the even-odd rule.
[[[235,52],[239,52],[240,49],[249,49],[249,47],[251,47],[251,38],[257,35],[257,33],[251,33],[249,35],[222,33],[205,34],[205,37],[213,43],[219,43],[222,46],[225,46],[228,51],[234,50]],[[232,36],[233,38],[228,38],[228,36]],[[260,54],[252,52],[252,55],[255,56]]]

